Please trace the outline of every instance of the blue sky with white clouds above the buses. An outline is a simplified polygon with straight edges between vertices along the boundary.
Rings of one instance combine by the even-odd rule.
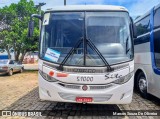
[[[19,0],[0,0],[0,8],[11,3],[17,3]],[[54,6],[62,6],[64,0],[33,0],[35,4],[45,2],[46,5],[42,7],[43,10],[52,8]],[[143,15],[149,11],[153,6],[160,4],[160,0],[66,0],[67,5],[119,5],[126,7],[132,17]]]

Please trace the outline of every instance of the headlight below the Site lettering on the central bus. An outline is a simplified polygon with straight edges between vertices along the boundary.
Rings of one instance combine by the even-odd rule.
[[[123,76],[123,77],[121,77],[121,78],[113,81],[112,83],[115,83],[115,84],[124,84],[124,83],[126,83],[127,81],[129,81],[131,79],[131,77],[133,76],[133,74],[134,74],[134,71],[130,72],[126,76]]]

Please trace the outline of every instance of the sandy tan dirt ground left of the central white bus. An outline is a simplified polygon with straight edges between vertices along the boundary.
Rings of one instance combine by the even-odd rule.
[[[25,71],[13,76],[0,76],[0,110],[11,105],[38,86],[38,72]],[[13,94],[15,93],[15,94]]]

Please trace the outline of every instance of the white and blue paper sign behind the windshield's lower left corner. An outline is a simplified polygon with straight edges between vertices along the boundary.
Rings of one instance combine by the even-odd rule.
[[[60,57],[60,54],[61,54],[60,52],[48,48],[44,56],[44,59],[57,62]]]

